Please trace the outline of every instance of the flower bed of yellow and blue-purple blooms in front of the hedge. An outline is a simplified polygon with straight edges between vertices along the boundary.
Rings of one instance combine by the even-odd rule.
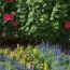
[[[70,56],[56,46],[42,43],[34,47],[17,44],[14,51],[0,48],[0,70],[69,70]]]

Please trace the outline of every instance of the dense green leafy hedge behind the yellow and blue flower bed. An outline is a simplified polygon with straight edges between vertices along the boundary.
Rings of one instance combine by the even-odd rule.
[[[10,2],[11,1],[11,2]],[[8,38],[18,34],[23,40],[50,40],[69,44],[70,29],[65,24],[70,20],[68,0],[0,0],[0,29]],[[5,14],[14,17],[5,22]],[[17,26],[13,26],[13,22]]]

